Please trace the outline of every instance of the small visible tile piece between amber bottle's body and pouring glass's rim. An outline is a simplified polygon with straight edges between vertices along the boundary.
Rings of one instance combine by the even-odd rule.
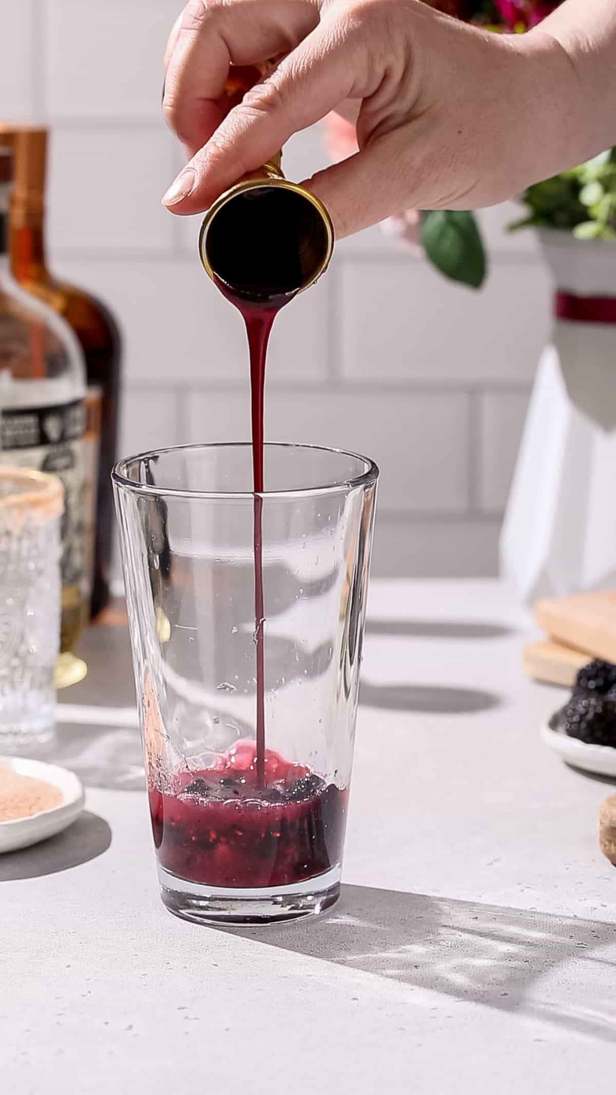
[[[173,388],[155,391],[124,389],[118,458],[178,445],[178,399]]]

